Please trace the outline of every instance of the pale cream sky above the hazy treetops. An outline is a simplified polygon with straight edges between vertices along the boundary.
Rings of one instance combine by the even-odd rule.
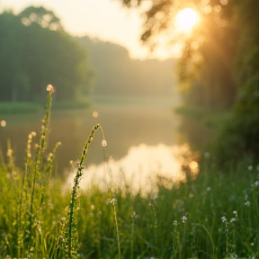
[[[149,1],[145,3],[143,10],[150,4]],[[13,13],[31,5],[42,5],[53,11],[69,34],[117,43],[129,50],[131,58],[172,57],[165,49],[157,49],[156,53],[150,54],[139,40],[144,22],[143,10],[129,10],[120,0],[0,0],[1,11],[12,9]]]

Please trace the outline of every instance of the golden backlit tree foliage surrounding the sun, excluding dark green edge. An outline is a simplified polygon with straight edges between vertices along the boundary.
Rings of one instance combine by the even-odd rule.
[[[141,5],[143,0],[138,1]],[[151,48],[157,45],[158,34],[171,35],[171,41],[183,44],[178,62],[178,78],[186,103],[211,108],[231,107],[237,94],[233,76],[238,30],[234,20],[235,1],[228,0],[152,0],[145,13],[146,22],[141,40]],[[132,6],[136,1],[122,0]],[[200,15],[200,24],[192,33],[176,33],[175,15],[192,7]]]

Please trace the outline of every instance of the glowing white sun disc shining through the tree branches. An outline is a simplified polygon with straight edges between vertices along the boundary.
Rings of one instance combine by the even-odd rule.
[[[177,28],[183,31],[190,31],[197,21],[198,13],[196,13],[192,8],[184,8],[179,11],[175,17]]]

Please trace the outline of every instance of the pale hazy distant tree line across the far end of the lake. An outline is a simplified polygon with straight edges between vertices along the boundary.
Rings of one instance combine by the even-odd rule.
[[[78,42],[87,50],[93,67],[94,94],[157,96],[175,94],[175,60],[138,60],[129,58],[120,45],[89,37]],[[179,95],[179,94],[178,94]]]

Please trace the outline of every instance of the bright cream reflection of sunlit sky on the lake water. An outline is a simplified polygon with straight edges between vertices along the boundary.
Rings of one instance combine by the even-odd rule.
[[[156,192],[157,176],[162,176],[165,187],[170,184],[184,181],[185,175],[181,168],[183,161],[180,156],[189,152],[189,147],[183,146],[147,146],[141,144],[138,147],[130,147],[127,156],[116,161],[110,159],[108,163],[101,165],[88,165],[85,169],[80,186],[83,189],[95,185],[106,190],[113,187],[129,186],[131,192]],[[192,165],[192,166],[191,166]],[[198,164],[197,164],[198,165]],[[195,165],[191,162],[192,171]],[[67,181],[67,187],[72,185],[74,175]],[[168,181],[166,181],[168,179]]]

